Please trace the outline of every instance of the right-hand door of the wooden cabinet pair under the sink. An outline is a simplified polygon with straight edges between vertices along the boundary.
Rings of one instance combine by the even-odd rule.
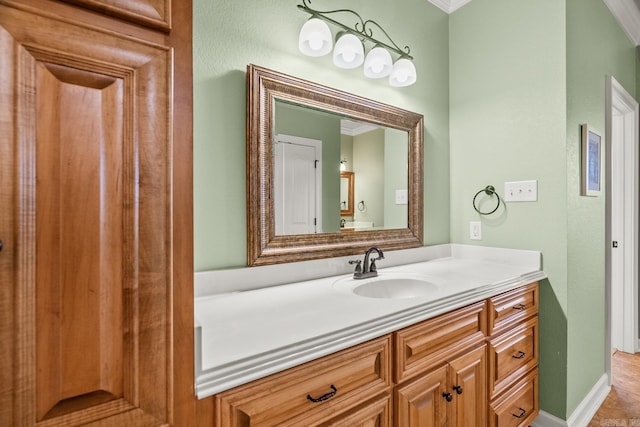
[[[453,396],[450,426],[480,427],[487,423],[486,345],[449,363],[448,393]]]

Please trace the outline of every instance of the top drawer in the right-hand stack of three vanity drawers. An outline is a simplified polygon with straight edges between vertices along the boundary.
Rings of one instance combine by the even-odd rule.
[[[489,299],[489,335],[538,313],[538,282]]]

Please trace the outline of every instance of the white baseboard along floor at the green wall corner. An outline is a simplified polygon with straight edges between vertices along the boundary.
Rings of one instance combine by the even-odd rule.
[[[567,421],[555,417],[544,411],[540,411],[533,421],[533,427],[586,427],[591,418],[596,414],[602,402],[607,398],[611,387],[608,385],[609,377],[603,374],[591,391],[582,399],[582,402],[573,411]]]

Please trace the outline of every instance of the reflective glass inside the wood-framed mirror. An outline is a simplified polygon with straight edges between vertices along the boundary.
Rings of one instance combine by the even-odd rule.
[[[396,199],[408,186],[406,131],[278,98],[273,128],[276,235],[407,227]],[[355,209],[341,197],[343,169],[359,178]]]

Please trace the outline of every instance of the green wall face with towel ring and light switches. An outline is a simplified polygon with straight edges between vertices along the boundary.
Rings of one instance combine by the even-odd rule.
[[[566,51],[558,0],[474,0],[450,19],[451,237],[453,242],[538,250],[540,404],[566,409]],[[486,185],[538,180],[538,202],[480,216]],[[469,221],[482,221],[482,241]]]

